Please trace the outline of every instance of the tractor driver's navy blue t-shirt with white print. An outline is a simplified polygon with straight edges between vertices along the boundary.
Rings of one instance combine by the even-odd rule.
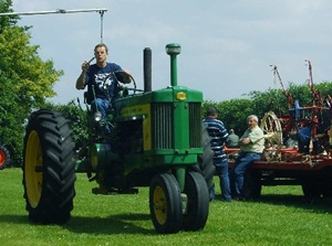
[[[122,81],[114,72],[120,71],[122,71],[121,66],[115,63],[107,63],[105,67],[98,67],[96,64],[91,65],[85,75],[87,92],[91,94],[93,86],[96,98],[110,97],[113,99],[118,93],[117,81]]]

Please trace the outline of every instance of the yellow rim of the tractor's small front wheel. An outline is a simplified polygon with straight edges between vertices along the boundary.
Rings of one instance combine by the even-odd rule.
[[[167,218],[167,201],[162,186],[158,185],[155,188],[153,201],[156,220],[160,225],[164,225]]]

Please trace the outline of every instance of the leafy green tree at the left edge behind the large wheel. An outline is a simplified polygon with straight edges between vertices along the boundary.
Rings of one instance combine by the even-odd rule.
[[[1,12],[12,12],[11,0],[0,0]],[[19,17],[0,17],[0,137],[20,164],[24,122],[30,113],[55,95],[53,85],[63,74],[53,62],[39,57],[39,45],[31,45],[29,26],[18,26]]]

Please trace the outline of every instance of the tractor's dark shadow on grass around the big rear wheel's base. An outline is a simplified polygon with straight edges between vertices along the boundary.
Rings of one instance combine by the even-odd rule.
[[[29,221],[28,214],[1,214],[0,222],[33,225],[33,223]],[[147,225],[147,223],[151,224],[151,228],[143,227],[144,225]],[[64,229],[77,234],[156,234],[156,231],[152,226],[149,214],[116,214],[108,217],[72,216],[65,225],[61,226]]]

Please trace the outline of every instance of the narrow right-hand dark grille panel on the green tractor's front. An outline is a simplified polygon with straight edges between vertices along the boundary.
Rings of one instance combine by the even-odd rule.
[[[201,110],[200,103],[189,104],[189,145],[201,148]]]

